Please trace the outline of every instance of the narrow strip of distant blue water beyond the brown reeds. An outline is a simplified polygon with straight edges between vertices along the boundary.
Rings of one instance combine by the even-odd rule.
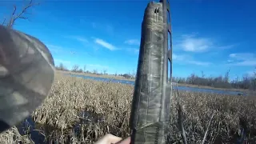
[[[116,83],[123,83],[134,85],[134,81],[126,81],[126,80],[119,80],[119,79],[112,79],[112,78],[100,78],[100,77],[90,77],[85,75],[77,75],[77,74],[68,74],[72,77],[80,77],[85,79],[92,79],[96,81],[102,82],[116,82]],[[174,89],[184,90],[184,91],[191,91],[191,92],[204,92],[204,93],[215,93],[215,94],[231,94],[231,95],[246,95],[246,93],[238,92],[238,91],[231,91],[231,90],[213,90],[213,89],[205,89],[205,88],[197,88],[197,87],[187,87],[187,86],[174,86]]]

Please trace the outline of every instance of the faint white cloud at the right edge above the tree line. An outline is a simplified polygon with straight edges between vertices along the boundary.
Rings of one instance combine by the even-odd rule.
[[[229,54],[229,58],[234,66],[256,66],[256,55],[252,53]]]

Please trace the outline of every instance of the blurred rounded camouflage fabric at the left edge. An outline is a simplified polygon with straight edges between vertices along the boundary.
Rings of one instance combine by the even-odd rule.
[[[0,26],[0,132],[27,118],[50,92],[54,59],[28,34]]]

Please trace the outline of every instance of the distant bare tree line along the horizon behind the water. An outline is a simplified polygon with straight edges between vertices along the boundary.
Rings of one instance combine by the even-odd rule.
[[[68,70],[66,66],[64,66],[62,63],[60,63],[59,66],[56,66],[57,70],[63,70],[63,71],[72,71],[76,73],[87,73],[87,74],[107,74],[107,70],[101,70],[98,72],[98,70],[86,70],[86,65],[82,68],[80,68],[78,65],[74,65],[71,70]],[[256,69],[255,69],[256,70]],[[124,78],[136,78],[136,71],[134,70],[132,73],[127,74],[117,74],[117,72],[114,74],[115,76],[122,76]],[[230,81],[230,70],[226,72],[224,75],[219,75],[218,77],[206,77],[206,74],[201,71],[201,75],[197,74],[190,74],[187,78],[181,78],[181,77],[173,77],[172,82],[177,82],[181,84],[190,84],[190,85],[197,85],[197,86],[210,86],[215,88],[225,88],[225,89],[248,89],[248,90],[256,90],[256,71],[254,71],[254,75],[248,75],[244,74],[241,78],[238,76]]]

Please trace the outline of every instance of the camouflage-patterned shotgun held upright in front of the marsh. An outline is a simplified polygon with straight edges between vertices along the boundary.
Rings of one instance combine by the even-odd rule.
[[[167,143],[172,94],[170,28],[170,2],[149,2],[142,21],[137,77],[130,114],[132,144]]]

